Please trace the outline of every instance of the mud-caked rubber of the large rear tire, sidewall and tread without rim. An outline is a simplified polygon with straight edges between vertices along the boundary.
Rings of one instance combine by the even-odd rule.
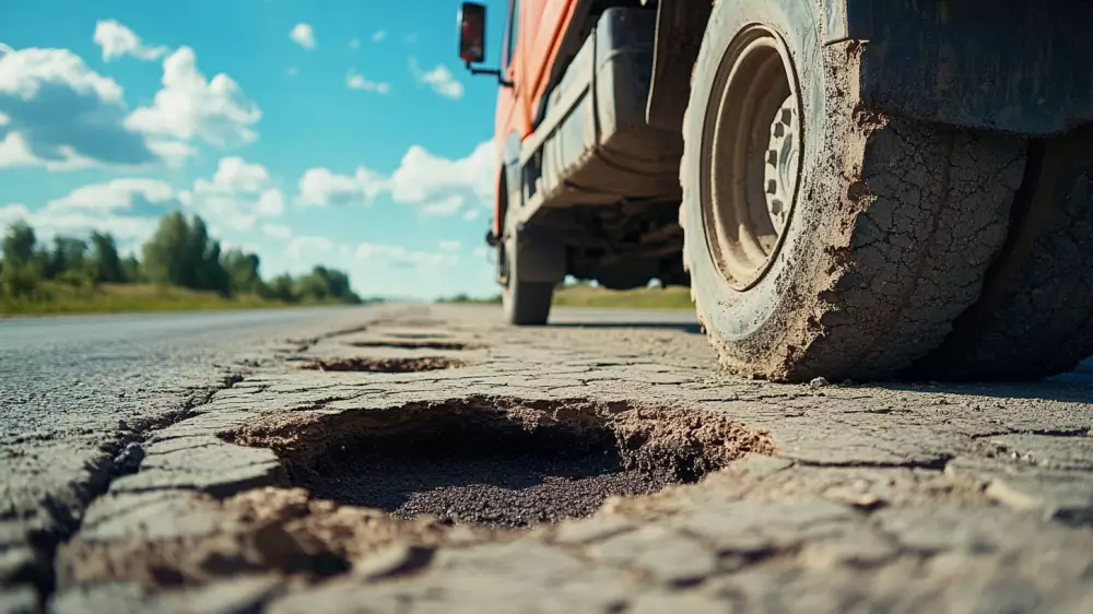
[[[684,118],[684,259],[698,317],[731,370],[883,377],[937,347],[978,297],[1006,239],[1024,149],[860,109],[861,44],[821,46],[816,11],[797,0],[715,5]],[[739,290],[715,263],[703,219],[703,123],[726,50],[755,23],[780,35],[800,79],[803,151],[780,247]]]

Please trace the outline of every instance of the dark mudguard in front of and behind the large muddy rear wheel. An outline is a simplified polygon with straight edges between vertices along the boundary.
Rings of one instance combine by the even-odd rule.
[[[1093,122],[1088,0],[777,1],[820,2],[824,45],[862,44],[859,92],[871,110],[1032,138]],[[682,129],[712,5],[660,0],[650,125]]]

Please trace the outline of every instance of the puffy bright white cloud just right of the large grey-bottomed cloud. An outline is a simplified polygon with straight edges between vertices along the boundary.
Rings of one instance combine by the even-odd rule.
[[[126,126],[149,134],[227,146],[255,141],[258,135],[251,126],[261,116],[231,76],[220,73],[207,80],[198,71],[193,49],[180,47],[163,61],[163,88],[156,92],[152,106],[134,110]]]

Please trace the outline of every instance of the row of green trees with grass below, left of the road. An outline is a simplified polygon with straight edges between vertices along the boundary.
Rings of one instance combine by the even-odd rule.
[[[0,248],[0,312],[361,303],[349,276],[326,267],[266,283],[257,255],[239,249],[222,253],[201,217],[179,212],[160,220],[142,247],[142,260],[122,259],[114,237],[104,233],[91,233],[87,240],[57,236],[51,248],[40,248],[34,228],[24,223],[8,228]],[[139,285],[149,283],[153,285]],[[126,287],[134,294],[121,293]],[[150,296],[142,287],[187,288],[190,294]]]

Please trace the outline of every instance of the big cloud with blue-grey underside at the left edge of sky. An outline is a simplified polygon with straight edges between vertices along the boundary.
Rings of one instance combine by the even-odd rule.
[[[158,160],[126,126],[122,90],[67,49],[0,55],[0,167],[138,166]]]

